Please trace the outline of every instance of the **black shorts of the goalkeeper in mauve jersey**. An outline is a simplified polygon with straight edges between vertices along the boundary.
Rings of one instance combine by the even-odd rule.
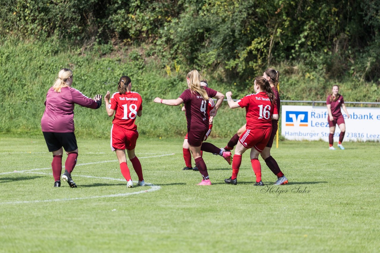
[[[74,151],[78,148],[76,145],[76,138],[74,132],[68,133],[55,133],[55,132],[42,132],[46,141],[49,152],[57,151],[64,148],[66,152]]]

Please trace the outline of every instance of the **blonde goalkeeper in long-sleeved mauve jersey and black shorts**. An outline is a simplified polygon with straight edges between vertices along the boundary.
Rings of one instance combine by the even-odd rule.
[[[74,170],[78,158],[78,145],[74,134],[74,104],[92,109],[97,109],[101,105],[101,95],[90,99],[80,91],[71,88],[72,83],[73,72],[70,69],[61,69],[58,79],[47,91],[44,103],[45,112],[41,119],[41,130],[47,148],[49,152],[53,153],[51,167],[54,187],[61,186],[63,149],[66,151],[67,159],[62,180],[67,181],[71,188],[77,187],[71,178],[71,172]]]

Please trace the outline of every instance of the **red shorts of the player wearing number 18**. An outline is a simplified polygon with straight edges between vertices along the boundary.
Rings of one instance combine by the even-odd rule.
[[[139,138],[137,130],[128,130],[117,124],[111,127],[111,150],[128,149],[132,150],[136,147],[136,141]]]

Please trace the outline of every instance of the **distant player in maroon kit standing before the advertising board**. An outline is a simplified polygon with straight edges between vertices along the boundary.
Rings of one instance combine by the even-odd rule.
[[[340,111],[340,107],[343,108],[344,112],[347,115],[347,118],[350,118],[350,115],[347,112],[346,105],[344,104],[343,96],[339,93],[339,86],[334,85],[332,86],[332,92],[326,99],[326,105],[327,105],[327,111],[329,113],[329,127],[330,127],[330,134],[329,134],[329,145],[331,150],[334,150],[334,146],[332,144],[334,143],[334,132],[336,124],[338,124],[340,129],[339,134],[339,142],[338,147],[340,149],[344,149],[342,145],[342,141],[344,138],[344,134],[346,132],[346,125],[344,123],[344,118],[342,115],[342,112]]]

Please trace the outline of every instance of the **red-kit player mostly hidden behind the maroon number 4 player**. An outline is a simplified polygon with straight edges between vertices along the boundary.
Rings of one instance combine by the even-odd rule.
[[[202,80],[201,81],[201,86],[204,86],[204,87],[208,87],[208,83],[207,83],[207,80]],[[210,111],[212,109],[214,109],[215,107],[215,102],[214,100],[210,97],[209,98],[209,106],[207,107],[207,114],[209,115],[209,130],[207,131],[206,133],[206,136],[204,137],[204,141],[207,140],[207,138],[210,136],[211,134],[211,129],[212,129],[212,121],[214,119],[213,116],[210,116]],[[185,111],[185,107],[182,107],[182,111]],[[195,170],[195,171],[198,171],[198,167],[192,167],[192,164],[191,164],[191,153],[190,153],[190,148],[189,148],[189,144],[187,142],[187,134],[185,136],[185,140],[184,140],[184,144],[182,145],[182,151],[183,151],[183,154],[184,154],[184,160],[185,160],[185,165],[186,167],[184,167],[182,170]],[[201,151],[201,156],[202,156],[202,151]]]

